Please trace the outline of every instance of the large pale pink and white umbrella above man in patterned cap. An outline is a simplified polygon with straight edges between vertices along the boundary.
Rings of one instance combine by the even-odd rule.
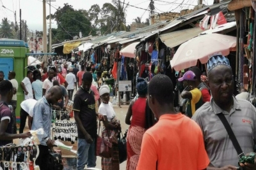
[[[209,57],[214,53],[228,55],[230,48],[236,46],[236,37],[222,34],[205,34],[190,39],[179,46],[171,60],[171,66],[175,71],[180,71],[196,66],[200,60],[202,64],[207,63]]]

